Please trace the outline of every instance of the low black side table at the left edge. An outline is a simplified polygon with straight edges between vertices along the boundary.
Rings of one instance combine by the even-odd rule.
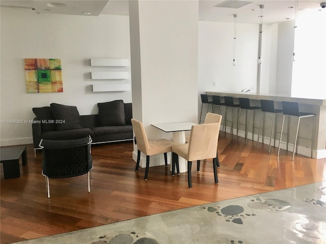
[[[25,166],[27,163],[27,154],[25,146],[12,146],[0,148],[0,160],[4,166],[5,179],[20,177],[20,157],[22,165]]]

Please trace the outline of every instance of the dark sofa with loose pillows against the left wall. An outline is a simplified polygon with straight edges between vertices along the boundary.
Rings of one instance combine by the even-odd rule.
[[[132,140],[132,105],[122,100],[98,103],[99,113],[79,115],[75,106],[50,104],[33,108],[34,149],[41,139],[69,140],[91,136],[92,144]]]

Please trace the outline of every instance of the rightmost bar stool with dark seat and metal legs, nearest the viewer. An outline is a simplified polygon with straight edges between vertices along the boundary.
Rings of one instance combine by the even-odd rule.
[[[313,117],[312,138],[311,138],[311,158],[312,158],[312,146],[313,146],[313,141],[314,141],[314,126],[315,126],[316,114],[300,112],[299,111],[299,104],[295,103],[295,102],[284,102],[283,101],[282,106],[283,106],[283,123],[282,123],[279,150],[278,150],[277,156],[280,155],[280,146],[281,146],[281,139],[282,139],[282,133],[283,133],[284,118],[287,115],[288,118],[289,118],[289,116],[297,117],[297,128],[296,128],[296,135],[295,135],[295,141],[294,141],[294,147],[293,147],[292,161],[294,159],[294,153],[295,153],[295,150],[296,150],[296,141],[297,141],[297,135],[298,135],[298,132],[299,132],[300,119],[301,118],[306,118],[306,117]],[[286,150],[288,149],[289,128],[290,127],[289,127],[289,119],[288,119],[288,132],[287,132],[287,138],[286,138]]]

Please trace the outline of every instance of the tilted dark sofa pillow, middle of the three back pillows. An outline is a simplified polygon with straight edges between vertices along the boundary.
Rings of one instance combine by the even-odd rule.
[[[51,103],[50,107],[55,117],[57,131],[83,128],[82,125],[80,125],[77,107],[58,103]]]

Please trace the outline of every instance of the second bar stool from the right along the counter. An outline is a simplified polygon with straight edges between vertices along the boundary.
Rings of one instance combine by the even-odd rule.
[[[270,139],[269,139],[269,149],[268,149],[268,154],[270,154],[270,144],[271,144],[271,136],[273,135],[273,131],[274,131],[274,146],[275,146],[275,138],[276,138],[276,128],[275,128],[275,124],[276,124],[276,121],[275,121],[275,117],[276,117],[276,114],[277,113],[282,113],[283,110],[282,109],[275,109],[274,108],[274,101],[272,100],[260,100],[260,107],[261,107],[261,118],[260,118],[260,124],[259,124],[259,130],[258,130],[258,138],[257,138],[257,149],[258,149],[258,141],[259,141],[259,132],[260,132],[260,128],[261,126],[263,125],[263,128],[262,128],[262,132],[263,132],[263,135],[262,135],[262,143],[264,144],[264,124],[263,123],[263,117],[265,118],[266,117],[266,113],[271,113],[273,114],[273,125],[271,127],[271,131],[270,131]],[[265,119],[264,119],[265,120]]]

